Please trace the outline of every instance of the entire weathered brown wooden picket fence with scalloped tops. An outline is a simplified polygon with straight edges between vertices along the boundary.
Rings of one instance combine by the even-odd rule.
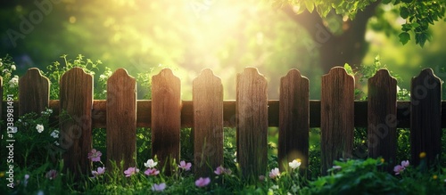
[[[135,165],[136,127],[151,127],[152,154],[161,164],[169,158],[178,162],[180,128],[193,127],[195,175],[211,175],[208,166],[223,164],[223,127],[236,127],[237,162],[245,176],[267,171],[268,126],[279,127],[279,165],[301,158],[304,168],[309,164],[309,129],[320,127],[323,173],[335,159],[358,156],[352,154],[355,126],[368,127],[368,154],[361,157],[393,163],[396,128],[409,127],[413,164],[419,163],[422,151],[429,163],[441,155],[446,127],[442,81],[432,69],[413,77],[409,102],[397,102],[397,82],[386,69],[368,80],[367,102],[354,101],[354,78],[339,67],[322,77],[320,101],[309,100],[309,80],[297,69],[281,78],[278,101],[268,100],[267,80],[255,68],[237,75],[235,101],[223,100],[223,86],[211,69],[194,79],[193,101],[181,101],[180,80],[170,69],[153,76],[152,100],[136,100],[136,80],[125,69],[108,79],[106,100],[93,99],[93,77],[78,68],[62,76],[60,100],[49,100],[49,81],[38,69],[29,69],[19,84],[19,115],[51,108],[66,110],[73,118],[60,121],[60,142],[65,166],[81,173],[89,169],[95,127],[106,128],[107,162],[124,160],[125,167]]]

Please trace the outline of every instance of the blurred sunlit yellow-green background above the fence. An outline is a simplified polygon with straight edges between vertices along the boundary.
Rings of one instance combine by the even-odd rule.
[[[327,73],[318,50],[325,43],[315,43],[308,28],[269,1],[11,0],[0,7],[0,56],[12,55],[19,76],[31,67],[45,70],[62,54],[75,59],[80,53],[113,71],[128,69],[134,77],[174,69],[182,79],[183,100],[192,99],[194,77],[211,68],[222,79],[225,99],[235,99],[236,74],[253,66],[268,79],[269,99],[278,99],[280,77],[299,69],[310,78],[310,99],[319,99],[321,76]],[[411,77],[426,67],[446,79],[444,21],[430,28],[433,40],[421,48],[414,41],[401,45],[404,20],[392,5],[379,4],[371,17],[358,20],[367,23],[365,35],[358,32],[365,44],[347,54],[365,54],[353,67],[372,65],[379,55],[401,77],[401,88],[409,88]],[[329,14],[322,24],[335,38],[349,23]],[[349,41],[354,40],[343,43],[356,44]],[[335,65],[343,66],[328,66]]]

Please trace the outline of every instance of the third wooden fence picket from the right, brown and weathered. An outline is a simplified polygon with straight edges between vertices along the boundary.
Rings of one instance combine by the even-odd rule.
[[[351,158],[354,129],[354,78],[335,67],[322,77],[320,100],[322,174],[333,161]]]

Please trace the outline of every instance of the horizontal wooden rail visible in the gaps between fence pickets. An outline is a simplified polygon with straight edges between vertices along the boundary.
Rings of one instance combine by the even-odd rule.
[[[6,102],[3,102],[5,109]],[[53,113],[59,113],[59,101],[52,100],[49,102],[50,109]],[[194,125],[194,115],[192,111],[192,101],[182,101],[181,109],[181,126],[192,127]],[[410,127],[410,110],[409,101],[397,102],[397,119],[398,128]],[[136,102],[136,126],[150,127],[151,126],[151,101],[138,100]],[[278,106],[279,101],[268,101],[268,126],[278,126]],[[14,103],[14,116],[19,116],[19,103]],[[104,128],[106,125],[106,102],[104,100],[95,100],[93,102],[93,124],[94,128]],[[235,101],[223,102],[223,119],[224,126],[235,127]],[[6,110],[3,110],[6,113]],[[5,115],[3,115],[5,117]],[[55,117],[57,119],[57,117]],[[355,126],[367,127],[368,118],[368,102],[355,101]],[[5,119],[5,118],[4,118]],[[310,101],[310,127],[320,127],[320,101]],[[442,128],[446,128],[446,101],[442,101]]]

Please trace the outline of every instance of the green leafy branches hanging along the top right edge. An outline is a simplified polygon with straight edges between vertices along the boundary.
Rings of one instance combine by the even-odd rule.
[[[329,12],[335,11],[354,20],[357,12],[364,10],[368,5],[373,4],[376,0],[362,1],[342,1],[342,0],[275,0],[274,4],[293,4],[296,6],[297,13],[308,10],[313,12],[315,9],[322,18],[325,18]],[[426,41],[432,40],[429,26],[434,25],[434,21],[442,20],[446,11],[446,1],[416,1],[416,0],[384,0],[382,4],[392,4],[400,12],[400,16],[405,20],[401,25],[401,33],[399,35],[402,45],[406,45],[410,37],[415,37],[415,43],[423,47]],[[388,21],[381,21],[381,25],[387,24]],[[387,25],[388,26],[388,25]],[[412,33],[412,36],[409,34]]]

